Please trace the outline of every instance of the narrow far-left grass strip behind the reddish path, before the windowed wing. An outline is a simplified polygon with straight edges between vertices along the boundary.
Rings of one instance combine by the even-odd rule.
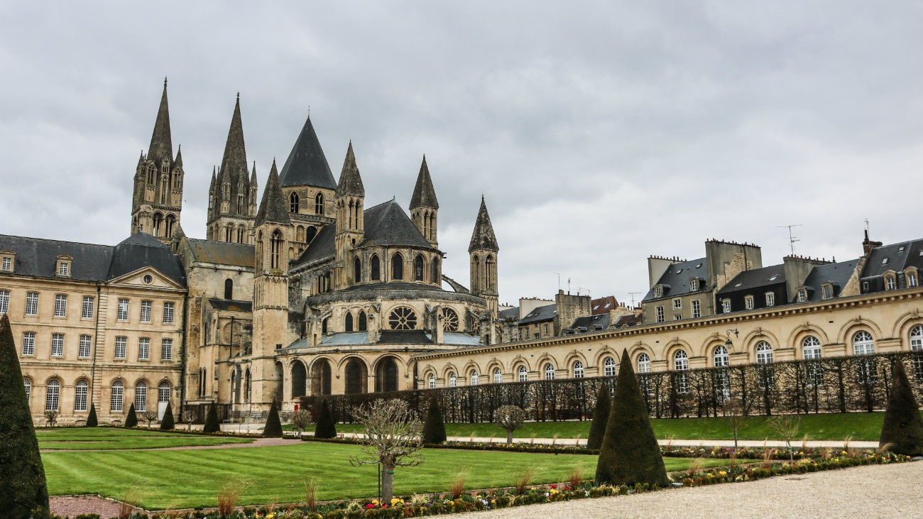
[[[162,447],[221,445],[224,443],[249,443],[253,441],[252,438],[199,436],[126,428],[49,428],[37,429],[35,434],[39,438],[39,447],[49,450],[158,449]]]

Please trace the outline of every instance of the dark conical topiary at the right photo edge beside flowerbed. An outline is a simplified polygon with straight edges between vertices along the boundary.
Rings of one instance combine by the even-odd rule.
[[[892,453],[923,455],[923,417],[900,360],[894,362],[891,394],[884,410],[879,447]]]

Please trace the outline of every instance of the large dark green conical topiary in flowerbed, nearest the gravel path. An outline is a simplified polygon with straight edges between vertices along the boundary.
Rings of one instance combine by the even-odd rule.
[[[665,487],[669,482],[641,387],[628,351],[623,351],[612,411],[596,463],[596,484],[650,483]]]

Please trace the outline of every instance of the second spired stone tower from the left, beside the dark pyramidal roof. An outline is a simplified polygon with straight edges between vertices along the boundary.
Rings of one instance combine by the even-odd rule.
[[[211,172],[206,235],[215,241],[253,244],[256,217],[257,164],[253,164],[252,172],[247,171],[240,94],[237,94],[228,139],[224,144],[222,167],[217,173]]]

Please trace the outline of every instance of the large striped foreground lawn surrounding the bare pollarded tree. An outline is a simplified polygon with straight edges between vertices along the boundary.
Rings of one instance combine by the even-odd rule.
[[[320,481],[320,499],[373,497],[376,466],[354,468],[348,458],[355,445],[297,442],[280,447],[191,451],[106,451],[42,453],[52,495],[101,494],[122,499],[129,490],[149,510],[215,506],[222,485],[240,485],[240,504],[303,501],[305,482]],[[460,471],[468,489],[512,485],[523,469],[533,469],[532,482],[565,480],[571,467],[584,477],[595,474],[596,456],[580,454],[498,453],[432,449],[426,462],[398,468],[395,493],[443,492]],[[706,466],[726,460],[704,460]],[[691,460],[665,458],[667,470],[686,468]]]

